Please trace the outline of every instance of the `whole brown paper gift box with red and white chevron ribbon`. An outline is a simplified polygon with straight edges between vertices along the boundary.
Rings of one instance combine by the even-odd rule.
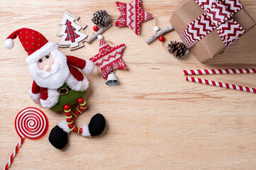
[[[239,0],[184,0],[170,22],[200,62],[221,54],[255,26]]]

